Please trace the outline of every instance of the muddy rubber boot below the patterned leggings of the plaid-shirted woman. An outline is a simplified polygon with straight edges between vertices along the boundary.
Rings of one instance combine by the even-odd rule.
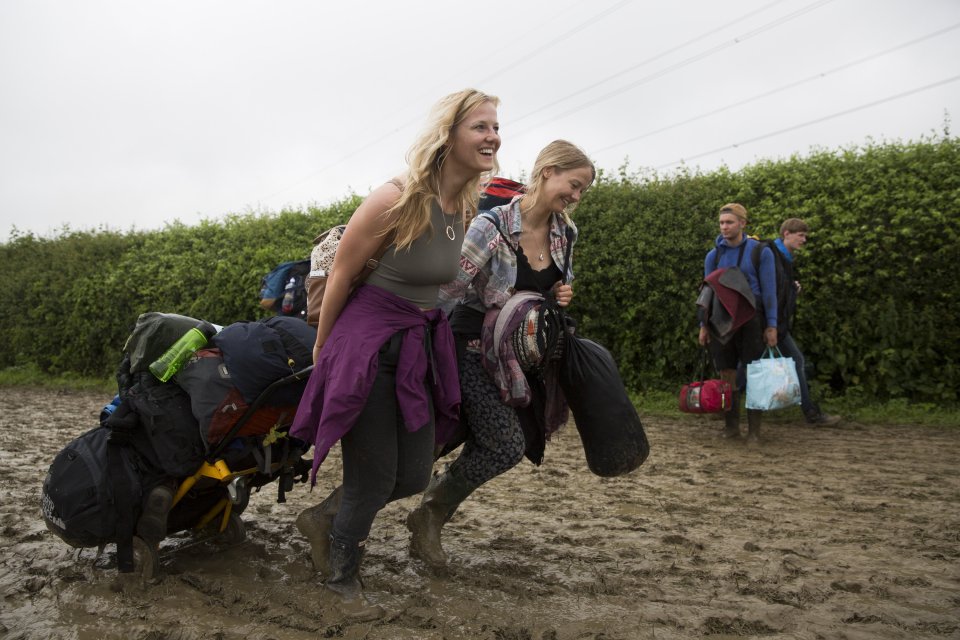
[[[477,485],[450,469],[434,474],[420,506],[407,516],[407,529],[413,534],[410,537],[411,556],[434,569],[446,566],[447,554],[440,545],[440,530],[476,488]]]

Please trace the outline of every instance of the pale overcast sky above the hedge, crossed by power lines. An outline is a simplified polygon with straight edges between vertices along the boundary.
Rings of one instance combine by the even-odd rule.
[[[917,140],[960,126],[960,0],[2,0],[0,241],[363,195],[468,86],[511,177]]]

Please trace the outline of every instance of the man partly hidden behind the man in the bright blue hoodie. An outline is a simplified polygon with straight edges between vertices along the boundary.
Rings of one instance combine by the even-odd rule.
[[[840,416],[823,413],[820,407],[810,398],[810,388],[807,385],[805,359],[800,347],[793,339],[793,314],[797,305],[797,294],[800,293],[800,284],[796,280],[793,270],[794,254],[807,243],[809,227],[800,218],[788,218],[780,225],[780,237],[774,241],[777,248],[777,260],[780,261],[780,277],[778,278],[779,301],[782,303],[779,318],[777,319],[778,344],[780,353],[793,358],[797,365],[797,377],[800,382],[800,408],[808,424],[830,426],[840,422]]]

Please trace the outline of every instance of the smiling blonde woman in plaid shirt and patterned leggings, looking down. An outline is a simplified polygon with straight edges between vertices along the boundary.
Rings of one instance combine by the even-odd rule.
[[[467,436],[460,456],[434,476],[420,506],[407,518],[413,534],[411,555],[434,568],[446,564],[440,529],[460,503],[515,467],[525,453],[539,464],[546,438],[564,419],[565,404],[551,407],[557,394],[538,384],[535,376],[527,376],[532,388],[524,392],[532,396],[528,406],[544,407],[545,415],[533,419],[505,403],[511,389],[490,371],[502,354],[491,350],[489,325],[496,311],[520,292],[552,292],[560,306],[570,304],[573,274],[562,271],[568,244],[576,239],[569,214],[595,178],[593,163],[581,149],[565,140],[551,142],[537,157],[526,193],[494,207],[496,222],[486,213],[474,219],[463,244],[460,273],[440,288],[441,307],[453,309],[450,322],[458,340]]]

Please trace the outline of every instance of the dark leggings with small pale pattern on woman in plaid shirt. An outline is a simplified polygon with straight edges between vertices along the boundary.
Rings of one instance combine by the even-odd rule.
[[[526,444],[517,412],[500,401],[500,391],[483,368],[479,353],[460,361],[460,395],[469,434],[450,470],[481,485],[523,459]]]

